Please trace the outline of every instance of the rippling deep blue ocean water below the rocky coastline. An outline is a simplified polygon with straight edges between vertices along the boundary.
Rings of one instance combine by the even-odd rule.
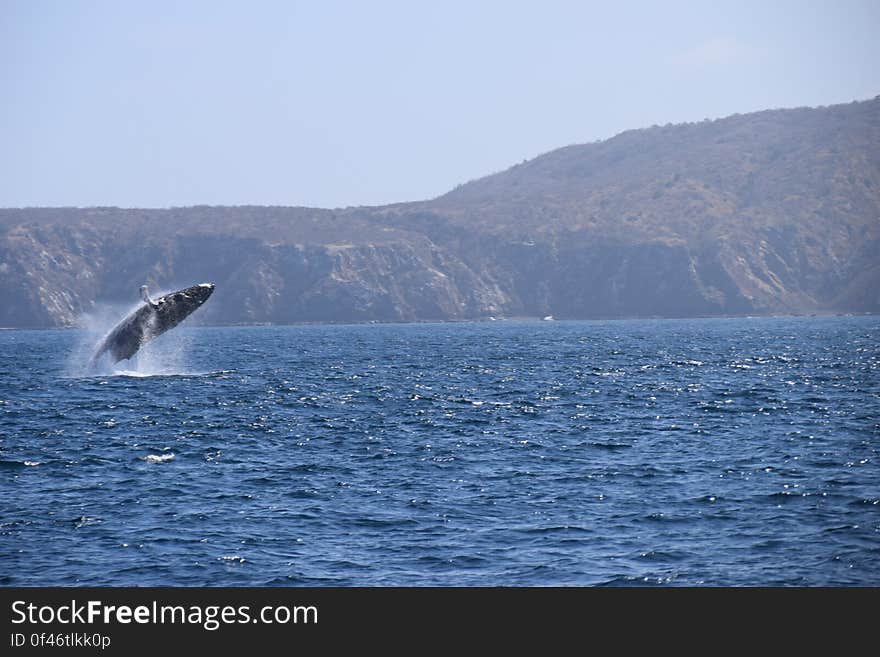
[[[3,585],[880,585],[880,318],[0,331]]]

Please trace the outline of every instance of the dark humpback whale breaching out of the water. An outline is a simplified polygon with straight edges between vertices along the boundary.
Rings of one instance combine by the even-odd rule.
[[[92,366],[104,354],[109,354],[113,363],[134,356],[147,342],[173,329],[205,303],[214,292],[214,284],[193,285],[156,300],[150,298],[146,285],[141,286],[140,292],[144,304],[119,322],[101,341],[92,356]]]

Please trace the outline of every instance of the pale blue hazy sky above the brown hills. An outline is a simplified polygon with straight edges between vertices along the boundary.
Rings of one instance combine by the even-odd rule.
[[[0,0],[0,206],[426,199],[880,94],[880,1]]]

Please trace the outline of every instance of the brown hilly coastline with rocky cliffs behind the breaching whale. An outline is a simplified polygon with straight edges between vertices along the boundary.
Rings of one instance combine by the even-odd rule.
[[[654,127],[432,201],[0,210],[0,326],[210,281],[206,323],[880,312],[880,100]]]

